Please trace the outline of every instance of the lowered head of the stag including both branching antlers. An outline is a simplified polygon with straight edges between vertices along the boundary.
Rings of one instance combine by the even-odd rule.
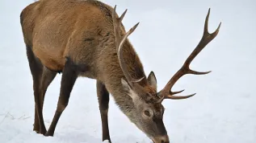
[[[162,105],[162,101],[165,99],[171,100],[181,100],[187,99],[191,96],[195,96],[195,94],[191,94],[188,96],[174,96],[183,91],[172,92],[171,88],[174,84],[180,79],[182,76],[187,74],[193,75],[205,75],[209,72],[195,72],[190,69],[190,64],[195,56],[199,54],[200,51],[204,49],[204,47],[212,41],[218,34],[220,30],[220,25],[212,34],[208,32],[208,18],[210,14],[210,9],[208,10],[207,17],[204,23],[204,35],[200,40],[195,50],[192,51],[191,55],[187,58],[183,66],[174,74],[174,76],[169,80],[166,84],[165,88],[163,88],[160,92],[157,92],[157,79],[153,72],[150,72],[147,83],[145,86],[141,86],[140,81],[145,77],[141,77],[141,79],[133,79],[131,75],[128,73],[128,68],[126,63],[124,63],[122,47],[124,41],[128,38],[128,35],[132,34],[135,31],[136,27],[139,23],[137,23],[134,27],[132,27],[125,35],[121,35],[120,27],[122,19],[126,14],[127,10],[120,16],[120,18],[116,17],[115,8],[113,10],[112,18],[113,25],[115,31],[115,43],[117,55],[120,62],[120,67],[124,72],[125,80],[121,80],[121,84],[124,88],[124,92],[132,98],[132,102],[134,104],[134,111],[128,115],[129,119],[143,131],[148,137],[150,137],[155,143],[169,143],[169,137],[166,132],[165,125],[163,124],[163,113],[164,107]],[[221,24],[221,22],[220,22]]]

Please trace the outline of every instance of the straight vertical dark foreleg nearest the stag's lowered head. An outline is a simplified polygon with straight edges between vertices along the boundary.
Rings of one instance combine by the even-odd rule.
[[[107,120],[109,92],[107,92],[105,85],[99,80],[97,80],[97,95],[99,100],[100,116],[102,120],[103,141],[108,140],[111,142]]]

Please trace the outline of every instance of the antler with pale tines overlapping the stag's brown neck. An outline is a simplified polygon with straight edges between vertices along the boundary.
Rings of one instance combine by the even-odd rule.
[[[122,68],[122,71],[124,72],[125,78],[128,80],[128,84],[132,85],[132,83],[140,82],[141,80],[144,79],[144,77],[142,77],[139,80],[135,80],[135,79],[132,78],[132,76],[130,76],[130,74],[128,73],[128,69],[127,69],[126,63],[124,62],[122,47],[123,47],[124,41],[128,38],[128,35],[131,35],[132,32],[135,31],[136,27],[139,25],[140,22],[136,23],[136,25],[134,27],[132,27],[122,37],[120,35],[121,22],[122,22],[122,20],[124,18],[124,15],[127,12],[127,9],[120,16],[120,18],[116,18],[116,16],[115,16],[115,9],[116,9],[116,5],[115,5],[113,13],[112,13],[112,18],[113,18],[113,25],[114,25],[114,32],[115,32],[115,44],[116,44],[117,55],[118,55],[118,59],[120,61],[120,67]]]

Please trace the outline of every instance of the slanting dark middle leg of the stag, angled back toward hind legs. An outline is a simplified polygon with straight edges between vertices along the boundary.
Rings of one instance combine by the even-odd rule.
[[[79,70],[80,68],[77,65],[75,65],[69,58],[66,58],[65,67],[61,77],[61,92],[57,103],[57,110],[52,119],[52,124],[45,136],[53,136],[57,122],[61,117],[61,113],[69,103],[70,92],[72,91],[73,84],[78,78]]]

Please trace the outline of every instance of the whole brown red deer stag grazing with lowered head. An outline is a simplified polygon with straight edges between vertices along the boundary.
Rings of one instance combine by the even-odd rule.
[[[96,0],[40,0],[27,6],[20,15],[20,22],[33,79],[33,130],[44,136],[53,136],[61,113],[69,103],[73,84],[78,76],[84,76],[97,80],[103,141],[111,141],[107,121],[111,93],[120,110],[138,129],[155,143],[168,143],[169,137],[162,121],[162,100],[194,96],[174,96],[180,92],[171,92],[170,89],[186,74],[209,73],[189,68],[191,61],[220,29],[219,26],[212,34],[208,33],[209,13],[210,9],[198,46],[166,87],[157,92],[154,73],[145,76],[141,60],[127,39],[138,23],[126,32],[122,24],[124,14],[119,17],[115,7]],[[61,91],[55,115],[46,131],[42,114],[44,95],[57,72],[62,73]]]

